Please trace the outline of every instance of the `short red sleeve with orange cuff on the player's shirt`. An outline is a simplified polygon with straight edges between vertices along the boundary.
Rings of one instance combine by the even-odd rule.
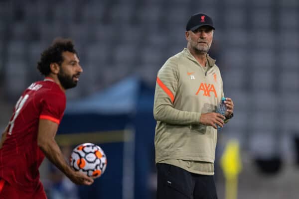
[[[59,124],[65,110],[65,103],[65,95],[62,93],[47,92],[41,101],[39,119],[48,119]]]

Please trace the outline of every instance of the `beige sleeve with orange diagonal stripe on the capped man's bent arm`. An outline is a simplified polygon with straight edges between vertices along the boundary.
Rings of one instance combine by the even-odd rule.
[[[178,65],[175,57],[169,58],[158,71],[153,116],[157,121],[169,124],[199,124],[200,113],[173,108],[179,81]]]

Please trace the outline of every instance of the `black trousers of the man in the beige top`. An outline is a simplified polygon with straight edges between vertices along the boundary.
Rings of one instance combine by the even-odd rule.
[[[157,163],[157,199],[218,199],[214,176]]]

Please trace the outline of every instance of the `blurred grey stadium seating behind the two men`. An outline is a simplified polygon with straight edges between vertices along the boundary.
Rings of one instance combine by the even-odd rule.
[[[203,11],[214,19],[214,58],[225,94],[236,104],[236,119],[223,131],[272,131],[272,115],[292,123],[288,113],[295,114],[298,102],[298,7],[297,0],[2,0],[0,75],[6,100],[40,78],[36,62],[55,37],[75,41],[84,69],[84,81],[68,92],[69,99],[136,74],[153,86],[166,59],[185,47],[188,17]],[[243,121],[249,115],[252,125]]]

